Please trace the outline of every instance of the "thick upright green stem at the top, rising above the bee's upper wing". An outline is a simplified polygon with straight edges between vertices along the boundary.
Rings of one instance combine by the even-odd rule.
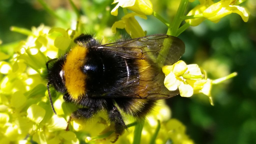
[[[177,36],[177,30],[182,22],[181,17],[184,15],[187,5],[188,5],[188,0],[180,1],[177,13],[173,19],[173,22],[171,23],[170,29],[168,29],[168,31],[167,31],[168,35]]]

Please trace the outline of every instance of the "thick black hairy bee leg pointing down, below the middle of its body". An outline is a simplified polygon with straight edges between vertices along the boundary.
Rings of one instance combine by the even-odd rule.
[[[113,104],[113,101],[107,102],[107,111],[109,115],[110,126],[115,129],[115,133],[118,136],[121,135],[123,131],[127,129],[127,127],[118,108]]]

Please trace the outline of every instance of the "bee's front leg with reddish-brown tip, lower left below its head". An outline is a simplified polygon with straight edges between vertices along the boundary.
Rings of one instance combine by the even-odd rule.
[[[68,124],[66,131],[69,130],[69,123],[72,119],[89,119],[96,113],[95,109],[93,108],[80,108],[76,111],[72,112],[69,117]]]

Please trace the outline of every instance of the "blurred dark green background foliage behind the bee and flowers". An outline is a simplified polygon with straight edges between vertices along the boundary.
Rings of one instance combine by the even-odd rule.
[[[32,26],[45,24],[51,27],[68,29],[76,22],[76,14],[68,0],[45,0],[51,9],[61,18],[49,14],[36,0],[0,1],[0,45],[1,51],[13,53],[6,45],[16,45],[26,35],[10,31],[10,26],[31,29]],[[124,30],[113,35],[112,24],[121,19],[110,15],[112,0],[90,0],[74,3],[83,15],[84,32],[119,38],[127,37]],[[166,19],[171,20],[178,8],[179,1],[152,1],[153,9]],[[190,3],[188,10],[198,2]],[[187,134],[195,143],[256,143],[256,1],[242,3],[251,13],[249,21],[244,23],[237,14],[228,15],[215,24],[205,21],[197,27],[190,27],[179,38],[186,45],[182,59],[187,64],[202,66],[208,77],[217,79],[234,71],[238,76],[226,83],[214,85],[212,96],[215,106],[208,98],[194,95],[192,98],[176,96],[167,99],[172,109],[172,118],[177,118],[187,127]],[[62,19],[62,20],[61,20]],[[137,18],[147,35],[166,33],[167,27],[153,16],[147,20]],[[157,27],[157,28],[156,28]]]

